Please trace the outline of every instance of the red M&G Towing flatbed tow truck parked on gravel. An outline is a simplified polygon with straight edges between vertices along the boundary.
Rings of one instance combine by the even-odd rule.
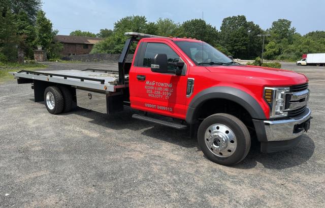
[[[11,73],[18,84],[31,83],[35,102],[45,101],[52,114],[77,105],[107,114],[131,106],[139,111],[133,118],[189,129],[206,157],[223,165],[243,160],[253,139],[261,152],[275,152],[295,146],[308,131],[305,75],[241,65],[196,39],[125,35],[118,72]],[[134,58],[127,63],[134,42]]]

